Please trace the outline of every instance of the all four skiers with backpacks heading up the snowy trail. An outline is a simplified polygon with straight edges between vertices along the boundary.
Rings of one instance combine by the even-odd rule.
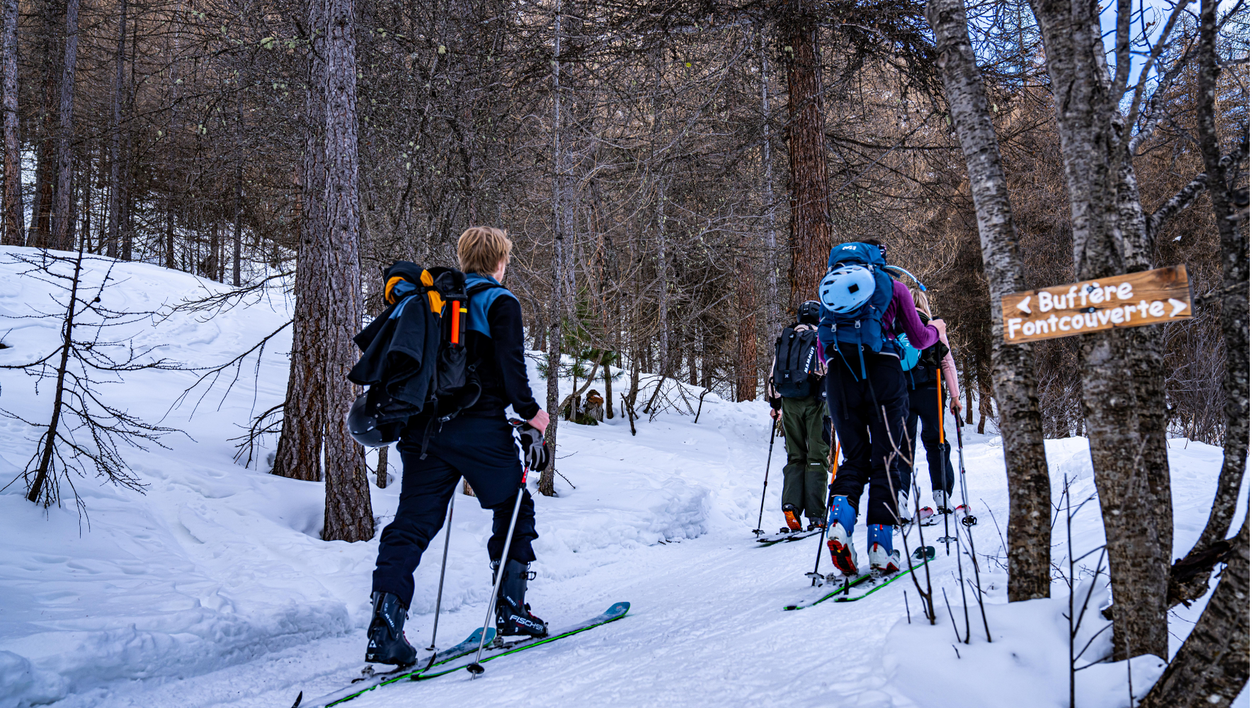
[[[415,663],[403,634],[413,576],[460,479],[494,513],[487,551],[497,635],[548,632],[525,602],[538,532],[520,454],[528,469],[548,466],[541,431],[549,416],[529,387],[520,302],[502,286],[511,241],[501,229],[472,227],[457,248],[458,271],[405,261],[387,268],[387,307],[355,338],[363,358],[349,378],[368,388],[346,423],[363,445],[397,442],[403,464],[398,513],[381,532],[371,578],[368,661]],[[957,373],[944,323],[932,319],[920,288],[912,294],[889,275],[894,270],[878,241],[836,246],[820,301],[799,306],[774,350],[769,399],[788,451],[783,514],[793,530],[803,519],[811,529],[825,527],[831,558],[846,574],[857,571],[852,533],[866,485],[870,568],[898,569],[893,529],[912,515],[919,421],[935,505],[952,511],[938,385],[943,372],[956,411]],[[520,420],[507,420],[507,406]],[[828,484],[832,438],[844,464]]]

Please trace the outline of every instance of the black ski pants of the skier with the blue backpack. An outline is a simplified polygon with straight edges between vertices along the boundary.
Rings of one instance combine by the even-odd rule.
[[[831,496],[847,496],[856,508],[869,484],[866,523],[899,523],[895,456],[908,408],[900,359],[888,354],[867,355],[866,378],[861,379],[860,367],[845,365],[836,358],[827,368],[826,401],[844,451],[844,464],[831,482]]]

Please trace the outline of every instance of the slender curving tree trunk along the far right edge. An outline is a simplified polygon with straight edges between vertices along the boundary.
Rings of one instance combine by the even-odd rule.
[[[1246,450],[1250,446],[1250,239],[1245,229],[1238,228],[1241,219],[1244,195],[1235,193],[1225,175],[1220,140],[1215,130],[1215,86],[1220,76],[1220,58],[1216,55],[1215,0],[1204,0],[1201,8],[1201,44],[1199,45],[1197,135],[1206,173],[1206,186],[1215,212],[1215,226],[1220,232],[1220,291],[1222,292],[1220,325],[1224,330],[1228,353],[1228,374],[1224,378],[1224,465],[1211,505],[1206,528],[1194,544],[1192,552],[1201,552],[1222,540],[1236,511],[1241,477],[1246,469]],[[1201,582],[1201,597],[1206,590]]]

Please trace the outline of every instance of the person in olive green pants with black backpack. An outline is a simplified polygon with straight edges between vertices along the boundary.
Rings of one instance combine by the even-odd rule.
[[[831,432],[826,364],[816,355],[818,307],[812,300],[802,304],[796,324],[779,335],[768,385],[769,414],[782,422],[787,438],[782,509],[789,530],[799,530],[805,518],[810,529],[826,523]]]

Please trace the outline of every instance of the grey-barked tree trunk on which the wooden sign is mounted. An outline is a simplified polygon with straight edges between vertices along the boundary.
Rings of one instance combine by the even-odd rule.
[[[1123,92],[1112,86],[1098,6],[1034,0],[1032,9],[1054,86],[1075,275],[1087,281],[1144,270],[1146,219],[1132,178],[1127,116],[1118,108]],[[1119,10],[1118,24],[1126,28],[1129,14]],[[1126,44],[1122,35],[1117,40]],[[1079,346],[1081,404],[1107,532],[1115,660],[1167,656],[1172,508],[1166,398],[1161,338],[1147,329],[1085,334]]]

